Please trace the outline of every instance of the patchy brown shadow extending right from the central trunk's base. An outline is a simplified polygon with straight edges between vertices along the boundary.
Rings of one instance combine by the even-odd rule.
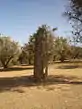
[[[47,79],[47,84],[82,84],[80,78],[76,76],[50,75]]]

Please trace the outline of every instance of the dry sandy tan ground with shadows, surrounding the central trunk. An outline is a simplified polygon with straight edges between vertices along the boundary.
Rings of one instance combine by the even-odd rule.
[[[50,65],[42,84],[30,75],[32,66],[0,69],[0,109],[82,109],[82,63]]]

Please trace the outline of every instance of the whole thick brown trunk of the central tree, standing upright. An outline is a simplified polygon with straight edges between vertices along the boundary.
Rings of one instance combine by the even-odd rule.
[[[39,33],[40,32],[40,33]],[[43,81],[48,75],[48,37],[41,29],[35,37],[34,78]]]

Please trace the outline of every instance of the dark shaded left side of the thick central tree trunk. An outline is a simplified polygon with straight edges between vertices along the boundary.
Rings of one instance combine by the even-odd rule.
[[[42,77],[43,77],[42,44],[41,44],[41,38],[36,37],[35,58],[34,58],[34,78],[36,81],[42,81]]]

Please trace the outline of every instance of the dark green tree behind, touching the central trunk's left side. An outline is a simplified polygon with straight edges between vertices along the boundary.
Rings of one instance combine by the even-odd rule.
[[[35,35],[31,35],[29,42],[22,46],[22,53],[19,56],[21,64],[34,64],[34,47],[35,47]]]

